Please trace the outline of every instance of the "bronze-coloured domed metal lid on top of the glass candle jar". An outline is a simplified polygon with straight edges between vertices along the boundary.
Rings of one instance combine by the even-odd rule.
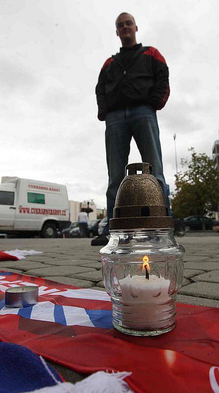
[[[148,163],[126,166],[110,220],[110,230],[174,228],[162,188]]]

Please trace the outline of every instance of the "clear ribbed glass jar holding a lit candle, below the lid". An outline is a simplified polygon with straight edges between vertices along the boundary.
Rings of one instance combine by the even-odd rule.
[[[173,232],[111,231],[100,254],[113,325],[118,331],[154,336],[174,329],[184,248],[176,243]]]

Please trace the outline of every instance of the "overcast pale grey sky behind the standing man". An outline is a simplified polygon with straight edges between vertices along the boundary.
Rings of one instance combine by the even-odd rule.
[[[177,156],[212,155],[218,138],[217,0],[0,0],[0,177],[65,184],[70,200],[106,206],[105,123],[95,85],[120,47],[114,21],[133,14],[137,42],[157,48],[171,95],[157,112],[166,183]],[[139,162],[134,141],[129,162]]]

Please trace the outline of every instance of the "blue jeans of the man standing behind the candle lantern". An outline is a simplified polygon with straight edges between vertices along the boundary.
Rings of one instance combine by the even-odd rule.
[[[166,199],[168,214],[171,215],[163,176],[156,111],[151,106],[139,105],[128,106],[125,109],[110,112],[106,116],[106,155],[109,174],[107,189],[108,220],[112,219],[118,187],[125,177],[125,166],[128,164],[132,137],[137,144],[142,162],[149,162],[153,166],[154,176],[160,183]],[[106,225],[103,233],[107,234],[108,231],[109,224]]]

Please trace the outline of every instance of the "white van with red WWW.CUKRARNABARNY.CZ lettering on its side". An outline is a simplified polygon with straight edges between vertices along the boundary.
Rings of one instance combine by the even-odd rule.
[[[69,202],[61,184],[3,177],[0,184],[0,233],[40,233],[57,237],[67,228]]]

